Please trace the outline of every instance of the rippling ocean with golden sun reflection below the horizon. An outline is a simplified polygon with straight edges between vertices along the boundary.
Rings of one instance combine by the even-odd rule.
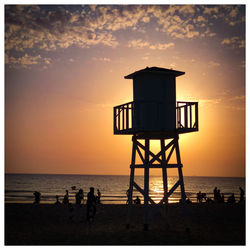
[[[175,184],[178,177],[168,177],[169,189]],[[143,188],[143,176],[136,176],[135,181]],[[150,177],[150,196],[158,202],[163,196],[162,177]],[[245,178],[234,177],[184,177],[187,197],[195,202],[196,194],[201,191],[207,197],[213,198],[213,189],[217,187],[224,194],[225,199],[235,194],[239,200],[239,187],[245,190]],[[75,186],[75,190],[72,187]],[[34,191],[41,193],[41,203],[54,203],[55,196],[62,201],[65,190],[69,190],[70,202],[75,202],[75,193],[82,188],[86,199],[90,187],[101,192],[103,204],[126,204],[126,191],[129,187],[129,176],[118,175],[58,175],[58,174],[5,174],[5,202],[6,203],[32,203]],[[143,197],[134,191],[134,198]],[[169,198],[169,202],[178,202],[181,197],[178,188]]]

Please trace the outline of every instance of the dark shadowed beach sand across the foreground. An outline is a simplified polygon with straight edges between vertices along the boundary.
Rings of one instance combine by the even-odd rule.
[[[95,221],[69,220],[69,209],[53,204],[5,204],[6,245],[244,245],[243,204],[187,204],[187,224],[179,204],[170,204],[166,230],[161,209],[151,207],[143,231],[142,206],[132,210],[126,229],[125,205],[99,205]]]

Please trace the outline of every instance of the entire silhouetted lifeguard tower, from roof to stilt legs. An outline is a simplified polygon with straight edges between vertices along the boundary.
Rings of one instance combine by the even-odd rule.
[[[133,79],[134,101],[114,107],[114,134],[133,135],[128,205],[132,205],[135,188],[144,197],[146,214],[149,202],[156,204],[149,196],[150,169],[162,170],[164,196],[159,204],[168,204],[168,198],[178,187],[182,201],[186,200],[178,141],[179,134],[198,131],[198,102],[176,102],[176,77],[184,74],[172,69],[147,67],[127,75],[125,79]],[[150,150],[151,140],[160,141],[160,152]],[[176,162],[169,163],[174,151]],[[143,188],[134,180],[137,168],[144,169]],[[168,168],[176,168],[179,176],[170,189]]]

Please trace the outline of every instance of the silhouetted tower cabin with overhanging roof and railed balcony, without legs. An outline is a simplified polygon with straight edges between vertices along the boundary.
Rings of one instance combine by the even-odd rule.
[[[176,77],[185,72],[147,67],[133,79],[133,101],[114,107],[114,134],[151,139],[198,131],[198,103],[176,102]]]

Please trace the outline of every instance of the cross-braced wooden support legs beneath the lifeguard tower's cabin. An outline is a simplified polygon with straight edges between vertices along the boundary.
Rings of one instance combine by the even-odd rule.
[[[134,135],[132,137],[133,141],[133,148],[132,148],[132,159],[130,165],[130,182],[129,182],[129,189],[127,192],[128,196],[128,206],[127,206],[127,228],[130,226],[130,217],[131,217],[131,210],[132,210],[132,203],[133,203],[133,188],[135,188],[141,195],[144,197],[144,204],[143,204],[143,227],[144,230],[148,230],[149,225],[149,202],[153,205],[156,205],[155,201],[151,199],[149,196],[149,169],[150,168],[158,168],[162,170],[162,180],[163,180],[163,190],[164,190],[164,197],[159,202],[159,205],[163,207],[163,216],[165,217],[166,221],[166,228],[168,228],[168,198],[173,194],[173,192],[180,186],[181,189],[181,201],[182,201],[182,212],[184,216],[184,224],[186,223],[187,212],[186,212],[186,194],[184,188],[184,180],[183,180],[183,173],[182,173],[182,163],[180,157],[180,149],[179,149],[179,136],[176,135],[165,145],[165,138],[159,138],[161,143],[161,150],[157,154],[150,151],[150,139],[149,138],[141,138]],[[144,140],[145,144],[143,145],[139,140]],[[168,151],[169,150],[169,151]],[[175,163],[169,163],[173,152],[176,153],[176,161]],[[136,164],[136,154],[139,156],[139,160],[141,160],[142,164]],[[167,157],[166,157],[167,156]],[[151,158],[150,158],[151,157]],[[140,168],[144,170],[144,188],[142,189],[134,180],[135,176],[135,169]],[[168,189],[168,168],[177,168],[179,178],[177,182]],[[187,226],[186,226],[187,228]]]

